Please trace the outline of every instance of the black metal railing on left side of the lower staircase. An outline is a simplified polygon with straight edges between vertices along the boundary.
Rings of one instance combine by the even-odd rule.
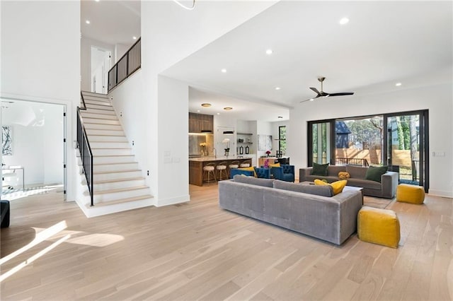
[[[81,105],[77,107],[77,148],[79,148],[82,169],[86,177],[86,184],[90,192],[91,206],[93,206],[93,153],[91,152],[90,143],[86,136],[86,130],[81,120],[81,110],[86,110],[84,95],[81,95]]]

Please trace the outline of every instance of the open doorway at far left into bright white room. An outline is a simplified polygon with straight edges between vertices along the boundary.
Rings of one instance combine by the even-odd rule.
[[[50,190],[66,197],[65,111],[64,105],[1,99],[1,199]]]

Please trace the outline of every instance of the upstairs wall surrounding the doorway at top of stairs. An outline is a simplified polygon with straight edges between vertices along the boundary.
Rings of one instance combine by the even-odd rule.
[[[113,55],[115,53],[115,46],[98,40],[90,39],[89,37],[81,37],[79,41],[81,58],[81,90],[91,91],[91,47],[99,47],[101,49],[108,50]]]

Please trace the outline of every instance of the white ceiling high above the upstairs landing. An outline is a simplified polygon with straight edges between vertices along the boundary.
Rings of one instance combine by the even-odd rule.
[[[140,1],[81,0],[80,28],[83,37],[110,45],[132,45],[140,37]],[[86,20],[90,24],[86,24]]]

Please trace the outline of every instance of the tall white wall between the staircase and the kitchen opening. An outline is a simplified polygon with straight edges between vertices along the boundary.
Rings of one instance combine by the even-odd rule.
[[[185,95],[183,84],[169,83],[159,78],[159,73],[274,3],[201,1],[197,9],[187,11],[173,1],[142,2],[142,81],[146,83],[146,101],[129,101],[130,105],[142,105],[136,118],[147,120],[147,156],[142,165],[151,172],[150,187],[157,206],[188,201],[184,196],[188,189],[188,91]],[[176,94],[178,98],[174,97]],[[168,158],[176,158],[171,170],[183,176],[166,171]]]

